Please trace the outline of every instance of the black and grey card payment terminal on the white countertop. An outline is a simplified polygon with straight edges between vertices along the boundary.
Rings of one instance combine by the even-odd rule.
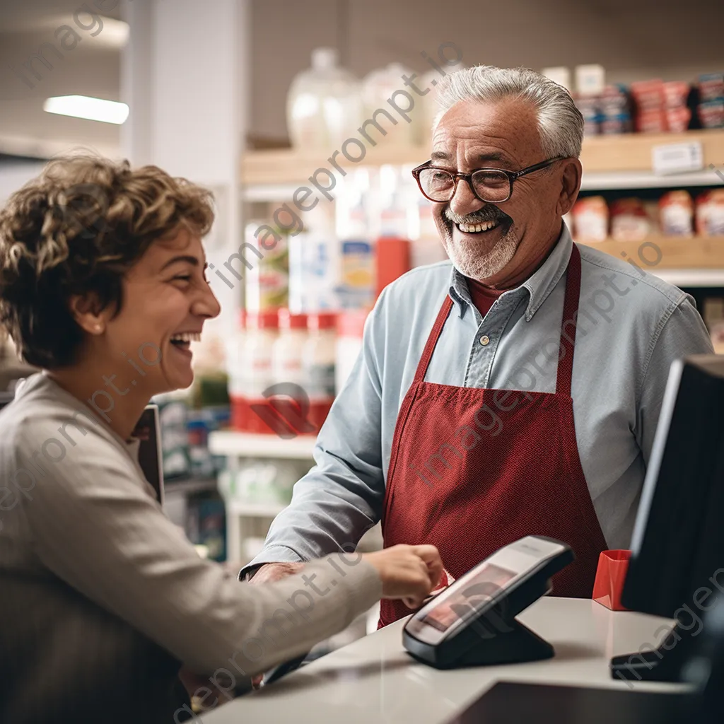
[[[553,647],[515,620],[572,563],[565,543],[526,536],[501,548],[424,605],[403,629],[410,654],[435,668],[546,659]]]

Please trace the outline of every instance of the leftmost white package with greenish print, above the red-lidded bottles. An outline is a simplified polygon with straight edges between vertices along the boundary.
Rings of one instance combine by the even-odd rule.
[[[242,267],[240,274],[245,274],[246,308],[265,311],[286,307],[289,303],[287,235],[272,224],[251,222],[246,225],[245,243],[246,263],[244,260],[238,263]]]

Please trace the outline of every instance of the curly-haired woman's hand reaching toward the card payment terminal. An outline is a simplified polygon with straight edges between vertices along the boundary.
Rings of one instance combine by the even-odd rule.
[[[403,599],[408,608],[420,607],[442,574],[433,545],[395,545],[362,557],[382,578],[382,597]]]

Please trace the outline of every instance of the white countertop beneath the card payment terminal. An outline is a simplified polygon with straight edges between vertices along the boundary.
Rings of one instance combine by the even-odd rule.
[[[671,621],[612,612],[591,600],[544,597],[518,616],[555,647],[549,660],[440,671],[402,646],[404,621],[203,715],[204,724],[443,724],[498,681],[675,691],[681,685],[615,681],[616,654],[657,647]],[[406,620],[406,619],[405,619]]]

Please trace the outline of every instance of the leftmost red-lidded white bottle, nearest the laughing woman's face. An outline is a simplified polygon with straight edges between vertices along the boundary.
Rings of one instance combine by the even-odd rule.
[[[252,406],[267,404],[264,392],[273,383],[271,350],[277,340],[277,312],[250,311],[245,320],[239,366],[229,375],[232,427],[242,432],[271,433],[274,430]]]

